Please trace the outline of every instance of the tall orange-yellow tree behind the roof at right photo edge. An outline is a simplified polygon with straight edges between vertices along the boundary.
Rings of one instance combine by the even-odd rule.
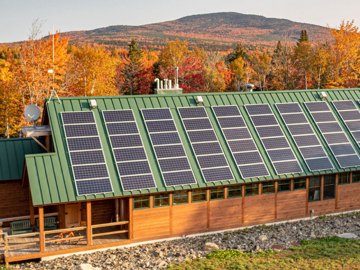
[[[360,33],[354,21],[342,21],[339,30],[330,31],[335,39],[333,44],[334,87],[356,87],[360,78]]]

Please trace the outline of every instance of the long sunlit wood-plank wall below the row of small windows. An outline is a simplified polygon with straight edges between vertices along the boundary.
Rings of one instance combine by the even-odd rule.
[[[134,240],[159,239],[358,210],[360,183],[336,185],[336,199],[308,202],[307,189],[132,210]],[[171,195],[170,195],[171,196]],[[151,196],[150,196],[151,197]]]

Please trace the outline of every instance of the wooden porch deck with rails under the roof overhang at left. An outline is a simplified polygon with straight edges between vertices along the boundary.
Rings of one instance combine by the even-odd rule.
[[[113,227],[93,228],[93,234],[109,233],[111,231],[116,231],[116,230],[117,229]],[[10,262],[10,261],[27,260],[28,258],[40,258],[45,256],[65,254],[65,253],[71,253],[82,250],[91,250],[91,249],[97,249],[103,247],[118,246],[122,244],[119,242],[123,242],[123,241],[127,242],[128,240],[126,233],[95,236],[93,237],[93,245],[87,246],[86,230],[81,230],[78,232],[85,238],[80,239],[80,241],[77,244],[72,244],[71,242],[64,242],[58,247],[51,247],[51,243],[45,242],[45,252],[42,253],[40,253],[39,234],[35,236],[9,239],[8,255],[6,256],[6,261]],[[51,234],[51,233],[46,234],[45,241],[51,240],[55,235],[58,234]],[[114,245],[112,245],[112,243],[114,243]],[[28,246],[12,247],[18,244],[28,244]],[[123,243],[123,244],[127,244],[127,243]],[[4,245],[0,245],[0,253],[4,253]]]

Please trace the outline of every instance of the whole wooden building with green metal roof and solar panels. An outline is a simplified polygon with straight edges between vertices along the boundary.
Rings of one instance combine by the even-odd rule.
[[[42,127],[24,130],[35,139],[0,140],[0,252],[11,262],[359,210],[360,89],[322,91],[47,100]],[[78,243],[52,247],[75,230]]]

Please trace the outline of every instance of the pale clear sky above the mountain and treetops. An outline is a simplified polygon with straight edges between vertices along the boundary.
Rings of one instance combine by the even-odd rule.
[[[360,0],[1,0],[0,43],[23,41],[31,23],[42,35],[111,25],[142,25],[188,15],[238,12],[337,28],[342,20],[360,27]]]

